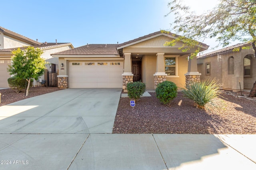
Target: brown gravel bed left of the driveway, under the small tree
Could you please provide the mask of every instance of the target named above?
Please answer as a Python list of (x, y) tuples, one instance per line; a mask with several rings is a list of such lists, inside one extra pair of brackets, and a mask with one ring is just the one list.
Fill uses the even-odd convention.
[(8, 88), (8, 89), (2, 89), (0, 90), (1, 93), (1, 103), (0, 106), (4, 106), (6, 104), (10, 104), (13, 102), (17, 102), (19, 100), (23, 100), (26, 98), (32, 98), (34, 96), (39, 96), (42, 94), (55, 92), (60, 90), (58, 87), (30, 87), (28, 96), (25, 97), (25, 92), (16, 93), (14, 90)]

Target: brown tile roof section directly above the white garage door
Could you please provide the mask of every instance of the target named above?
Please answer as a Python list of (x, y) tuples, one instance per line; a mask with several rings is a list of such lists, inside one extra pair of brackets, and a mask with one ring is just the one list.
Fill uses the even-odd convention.
[(88, 44), (88, 46), (84, 45), (67, 51), (54, 53), (54, 55), (118, 55), (116, 45), (117, 44)]

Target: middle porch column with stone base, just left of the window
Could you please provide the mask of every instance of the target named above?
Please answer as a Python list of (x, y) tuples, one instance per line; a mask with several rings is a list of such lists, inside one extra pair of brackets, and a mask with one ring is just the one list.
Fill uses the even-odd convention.
[(154, 88), (161, 82), (166, 81), (167, 74), (164, 70), (164, 53), (156, 53), (156, 72), (154, 74)]

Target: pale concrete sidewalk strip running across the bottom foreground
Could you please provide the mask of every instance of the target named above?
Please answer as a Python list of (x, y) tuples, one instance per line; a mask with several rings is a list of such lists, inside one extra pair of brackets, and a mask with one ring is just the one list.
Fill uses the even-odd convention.
[(1, 170), (256, 169), (256, 135), (1, 134), (0, 139), (0, 160), (8, 161)]

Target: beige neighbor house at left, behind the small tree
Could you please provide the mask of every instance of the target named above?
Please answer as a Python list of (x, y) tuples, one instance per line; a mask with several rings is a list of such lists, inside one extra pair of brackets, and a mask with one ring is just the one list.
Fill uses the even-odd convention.
[[(43, 50), (44, 53), (41, 57), (51, 63), (46, 65), (49, 71), (58, 70), (58, 59), (53, 58), (50, 54), (74, 48), (71, 43), (57, 43), (57, 41), (56, 43), (40, 43), (0, 27), (0, 87), (9, 87), (7, 79), (10, 74), (7, 72), (7, 68), (11, 64), (11, 51), (18, 47), (24, 49), (26, 46), (33, 46)], [(42, 79), (44, 79), (44, 76), (42, 76)]]

